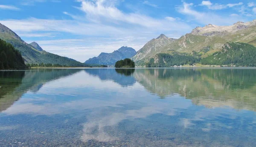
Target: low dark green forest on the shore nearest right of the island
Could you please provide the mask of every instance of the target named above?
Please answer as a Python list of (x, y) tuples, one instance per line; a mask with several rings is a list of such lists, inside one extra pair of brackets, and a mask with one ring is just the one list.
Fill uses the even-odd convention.
[(200, 62), (201, 58), (196, 58), (188, 55), (179, 54), (157, 54), (156, 57), (159, 59), (157, 63), (151, 58), (146, 64), (147, 67), (172, 67), (175, 65), (193, 65), (194, 63)]

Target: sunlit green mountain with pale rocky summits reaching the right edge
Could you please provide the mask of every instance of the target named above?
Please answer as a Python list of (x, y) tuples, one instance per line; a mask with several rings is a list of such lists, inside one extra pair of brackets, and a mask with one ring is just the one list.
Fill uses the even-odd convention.
[[(168, 50), (190, 54), (192, 51), (200, 52), (207, 57), (221, 50), (226, 42), (244, 42), (253, 44), (256, 40), (256, 20), (248, 23), (238, 22), (230, 26), (206, 25), (197, 27), (191, 33), (180, 37), (172, 44), (166, 45), (161, 50)], [(208, 48), (208, 51), (202, 51)]]

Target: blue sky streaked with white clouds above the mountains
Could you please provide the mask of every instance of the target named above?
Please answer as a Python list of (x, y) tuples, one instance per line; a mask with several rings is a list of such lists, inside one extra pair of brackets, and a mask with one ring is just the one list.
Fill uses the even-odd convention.
[(80, 62), (160, 34), (256, 19), (254, 0), (0, 0), (0, 23), (25, 42)]

